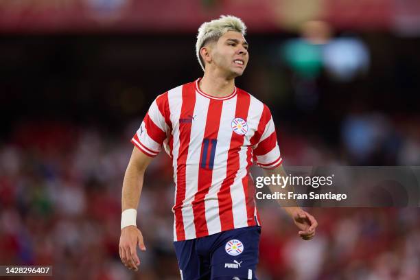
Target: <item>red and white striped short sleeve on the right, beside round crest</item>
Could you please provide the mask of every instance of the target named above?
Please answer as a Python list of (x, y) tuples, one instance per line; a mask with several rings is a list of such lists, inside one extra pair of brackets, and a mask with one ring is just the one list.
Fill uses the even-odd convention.
[(258, 142), (253, 145), (253, 156), (257, 165), (266, 169), (273, 169), (281, 165), (283, 160), (277, 143), (275, 124), (266, 105), (264, 105), (256, 134)]

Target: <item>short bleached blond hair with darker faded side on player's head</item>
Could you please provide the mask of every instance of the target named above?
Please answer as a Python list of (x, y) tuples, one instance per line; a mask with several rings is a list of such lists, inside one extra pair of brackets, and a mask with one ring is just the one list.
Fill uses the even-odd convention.
[(202, 23), (198, 28), (196, 55), (202, 71), (205, 71), (205, 62), (200, 56), (200, 49), (209, 42), (217, 42), (228, 31), (240, 32), (245, 36), (245, 23), (236, 16), (220, 16), (219, 19)]

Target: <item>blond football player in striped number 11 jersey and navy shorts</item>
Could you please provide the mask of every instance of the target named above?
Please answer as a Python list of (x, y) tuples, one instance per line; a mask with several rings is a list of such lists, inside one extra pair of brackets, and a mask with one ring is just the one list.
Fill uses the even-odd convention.
[[(246, 27), (235, 16), (203, 23), (196, 54), (203, 78), (156, 97), (132, 138), (135, 148), (122, 190), (119, 253), (137, 270), (145, 250), (136, 215), (143, 175), (161, 147), (174, 166), (174, 246), (181, 279), (257, 279), (260, 220), (250, 178), (253, 161), (266, 174), (285, 175), (270, 110), (237, 89), (248, 63)], [(316, 220), (287, 207), (299, 235), (315, 234)]]

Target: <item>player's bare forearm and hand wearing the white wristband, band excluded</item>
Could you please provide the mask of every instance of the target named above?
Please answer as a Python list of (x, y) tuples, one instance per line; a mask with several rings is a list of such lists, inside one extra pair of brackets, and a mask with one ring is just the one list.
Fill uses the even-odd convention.
[[(144, 173), (150, 161), (152, 161), (152, 157), (146, 156), (138, 148), (135, 147), (132, 150), (122, 187), (122, 211), (126, 209), (137, 209), (139, 206)], [(138, 270), (140, 264), (136, 250), (137, 245), (140, 250), (145, 250), (143, 235), (137, 229), (137, 226), (126, 226), (121, 229), (119, 257), (127, 268), (135, 271)]]

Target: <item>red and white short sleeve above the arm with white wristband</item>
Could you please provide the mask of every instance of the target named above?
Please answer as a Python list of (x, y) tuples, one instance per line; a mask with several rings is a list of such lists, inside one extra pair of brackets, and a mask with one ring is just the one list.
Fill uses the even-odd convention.
[(148, 156), (156, 156), (162, 150), (163, 141), (167, 137), (169, 126), (165, 122), (163, 95), (152, 102), (140, 128), (132, 137), (131, 142)]

